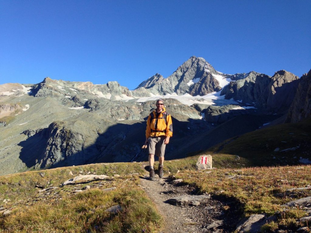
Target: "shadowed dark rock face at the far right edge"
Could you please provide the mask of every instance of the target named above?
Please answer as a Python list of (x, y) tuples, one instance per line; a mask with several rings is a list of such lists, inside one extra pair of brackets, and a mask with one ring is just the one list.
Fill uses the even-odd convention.
[(311, 70), (304, 74), (297, 87), (295, 98), (287, 114), (286, 122), (298, 122), (311, 116)]

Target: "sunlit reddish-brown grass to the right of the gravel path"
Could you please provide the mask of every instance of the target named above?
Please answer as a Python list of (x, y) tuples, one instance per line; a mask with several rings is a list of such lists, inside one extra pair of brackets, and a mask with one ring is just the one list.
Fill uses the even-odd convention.
[[(201, 193), (211, 194), (215, 199), (234, 199), (242, 213), (241, 218), (280, 213), (277, 224), (289, 226), (292, 219), (306, 216), (302, 209), (285, 210), (281, 205), (311, 195), (311, 190), (287, 191), (311, 185), (311, 166), (215, 169), (208, 172), (180, 172), (176, 178), (197, 186)], [(273, 223), (268, 226), (275, 228)]]

